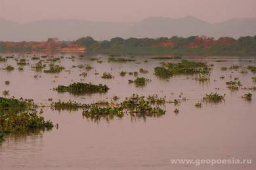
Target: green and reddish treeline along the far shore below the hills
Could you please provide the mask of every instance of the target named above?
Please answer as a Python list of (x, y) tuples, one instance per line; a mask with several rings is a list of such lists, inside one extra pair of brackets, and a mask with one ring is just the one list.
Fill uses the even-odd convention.
[(0, 52), (57, 51), (62, 48), (85, 48), (88, 54), (109, 55), (221, 55), (253, 56), (256, 55), (256, 35), (239, 39), (221, 37), (160, 37), (129, 38), (116, 37), (110, 41), (95, 41), (92, 37), (82, 37), (76, 41), (45, 42), (0, 42)]

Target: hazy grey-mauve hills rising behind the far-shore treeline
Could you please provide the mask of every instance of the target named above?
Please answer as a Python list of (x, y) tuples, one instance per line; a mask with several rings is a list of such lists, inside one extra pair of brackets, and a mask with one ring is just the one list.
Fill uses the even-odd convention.
[(86, 20), (41, 20), (17, 24), (0, 19), (0, 41), (45, 41), (49, 37), (73, 41), (91, 36), (96, 40), (113, 37), (234, 37), (256, 35), (256, 18), (239, 18), (209, 24), (198, 18), (150, 17), (141, 22), (90, 22)]

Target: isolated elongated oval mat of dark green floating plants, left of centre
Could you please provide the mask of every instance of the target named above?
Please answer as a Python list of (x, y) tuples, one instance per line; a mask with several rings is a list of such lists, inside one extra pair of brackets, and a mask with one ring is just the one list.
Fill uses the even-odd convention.
[(59, 93), (63, 92), (69, 92), (73, 94), (85, 94), (85, 93), (106, 93), (108, 92), (109, 88), (106, 85), (94, 85), (91, 83), (82, 83), (77, 82), (70, 84), (69, 86), (58, 86), (57, 88), (54, 88), (53, 90), (56, 90)]

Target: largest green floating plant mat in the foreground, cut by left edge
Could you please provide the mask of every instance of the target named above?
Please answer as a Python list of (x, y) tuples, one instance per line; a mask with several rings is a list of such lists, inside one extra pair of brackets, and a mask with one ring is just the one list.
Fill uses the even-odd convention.
[(53, 123), (49, 120), (45, 121), (33, 107), (33, 100), (30, 99), (0, 97), (0, 136), (2, 140), (9, 133), (30, 133), (37, 130), (49, 130), (53, 127)]

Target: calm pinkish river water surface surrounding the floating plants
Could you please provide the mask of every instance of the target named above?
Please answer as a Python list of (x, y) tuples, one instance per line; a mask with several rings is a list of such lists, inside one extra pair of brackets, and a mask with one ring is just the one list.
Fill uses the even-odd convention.
[[(0, 56), (10, 56), (1, 54)], [(36, 54), (42, 56), (43, 54)], [(18, 57), (18, 54), (15, 54)], [(20, 58), (30, 59), (31, 54), (22, 54)], [(32, 135), (10, 135), (0, 146), (0, 169), (256, 169), (256, 95), (251, 90), (230, 91), (226, 82), (239, 78), (244, 87), (255, 86), (250, 71), (247, 74), (238, 71), (221, 71), (221, 67), (233, 64), (256, 65), (253, 57), (184, 57), (193, 61), (213, 63), (210, 82), (200, 83), (192, 79), (195, 76), (179, 75), (162, 80), (153, 75), (154, 67), (160, 65), (160, 59), (150, 59), (149, 56), (135, 56), (136, 62), (108, 63), (107, 56), (96, 56), (103, 63), (90, 61), (89, 56), (68, 59), (71, 54), (54, 54), (54, 57), (64, 56), (56, 63), (64, 65), (71, 73), (62, 71), (60, 74), (45, 74), (32, 71), (25, 66), (24, 71), (15, 69), (12, 72), (0, 70), (0, 92), (10, 90), (10, 96), (34, 99), (36, 103), (49, 105), (53, 101), (68, 101), (93, 103), (99, 100), (110, 101), (114, 95), (119, 101), (133, 93), (140, 95), (158, 94), (166, 96), (167, 100), (182, 97), (180, 105), (167, 103), (166, 114), (160, 118), (123, 118), (100, 121), (83, 118), (82, 111), (61, 111), (46, 108), (43, 116), (58, 124), (51, 131)], [(126, 57), (129, 58), (129, 57)], [(147, 59), (148, 63), (144, 60)], [(217, 59), (226, 62), (215, 62)], [(168, 60), (178, 62), (181, 59)], [(29, 61), (30, 65), (37, 61)], [(140, 63), (137, 63), (140, 62)], [(83, 69), (72, 68), (72, 65), (88, 63), (94, 68), (83, 78)], [(0, 67), (16, 61), (9, 59), (0, 63)], [(135, 76), (121, 77), (121, 71), (138, 71), (147, 69), (144, 76), (152, 80), (143, 88), (128, 84)], [(105, 80), (94, 73), (112, 73), (114, 79)], [(33, 78), (41, 75), (40, 78)], [(219, 78), (224, 75), (224, 80)], [(232, 78), (230, 78), (232, 75)], [(81, 80), (84, 79), (84, 80)], [(11, 84), (5, 85), (9, 80)], [(106, 84), (110, 87), (108, 93), (93, 95), (71, 95), (57, 93), (53, 88), (73, 82), (92, 82)], [(216, 89), (219, 88), (219, 89)], [(226, 94), (225, 102), (219, 104), (203, 103), (202, 108), (194, 107), (205, 94), (218, 92)], [(245, 101), (242, 95), (253, 93), (252, 101)], [(173, 110), (179, 109), (179, 114)], [(174, 165), (174, 158), (238, 158), (251, 159), (251, 165)]]

